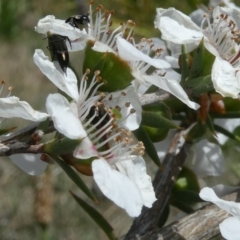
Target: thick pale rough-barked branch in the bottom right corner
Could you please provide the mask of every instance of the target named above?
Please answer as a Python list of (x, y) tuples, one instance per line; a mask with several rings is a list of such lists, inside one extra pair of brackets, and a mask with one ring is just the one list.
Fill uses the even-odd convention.
[[(226, 195), (224, 200), (240, 201), (240, 190)], [(207, 204), (202, 209), (187, 215), (161, 229), (154, 228), (147, 232), (139, 240), (183, 240), (183, 239), (212, 239), (220, 234), (219, 224), (230, 217), (226, 211), (215, 204)], [(130, 239), (130, 238), (129, 238)], [(135, 238), (132, 238), (135, 239)], [(214, 238), (215, 239), (215, 238)], [(222, 239), (222, 237), (220, 238)]]

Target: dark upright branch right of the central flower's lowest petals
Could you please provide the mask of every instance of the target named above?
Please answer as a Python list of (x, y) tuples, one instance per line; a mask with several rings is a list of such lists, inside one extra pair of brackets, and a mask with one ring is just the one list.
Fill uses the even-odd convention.
[(168, 203), (174, 182), (192, 146), (191, 143), (185, 142), (183, 133), (184, 131), (180, 131), (175, 134), (168, 153), (164, 158), (163, 170), (158, 170), (153, 181), (158, 200), (153, 204), (152, 208), (144, 207), (142, 209), (141, 215), (134, 220), (125, 240), (142, 239), (148, 232), (157, 229), (158, 219)]

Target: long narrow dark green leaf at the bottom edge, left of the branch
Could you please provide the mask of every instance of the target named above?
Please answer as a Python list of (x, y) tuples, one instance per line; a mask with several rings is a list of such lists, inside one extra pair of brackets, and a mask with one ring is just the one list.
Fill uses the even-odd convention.
[(88, 205), (80, 197), (75, 195), (70, 191), (70, 194), (76, 200), (76, 202), (83, 208), (83, 210), (88, 213), (88, 215), (95, 221), (95, 223), (106, 233), (108, 239), (116, 240), (117, 237), (114, 234), (112, 226), (107, 222), (107, 220), (93, 207)]

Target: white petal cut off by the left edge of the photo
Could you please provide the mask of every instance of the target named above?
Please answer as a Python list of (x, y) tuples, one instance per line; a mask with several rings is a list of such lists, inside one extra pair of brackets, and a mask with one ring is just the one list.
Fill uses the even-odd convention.
[(27, 102), (20, 101), (17, 97), (8, 97), (0, 98), (0, 117), (41, 122), (47, 119), (48, 114), (35, 111)]

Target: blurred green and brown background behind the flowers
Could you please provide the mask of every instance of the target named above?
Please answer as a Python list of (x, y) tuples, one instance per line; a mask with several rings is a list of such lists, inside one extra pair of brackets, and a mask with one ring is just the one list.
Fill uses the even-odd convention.
[[(175, 7), (189, 14), (197, 5), (207, 3), (199, 0), (105, 0), (95, 1), (94, 7), (102, 4), (106, 9), (115, 10), (115, 25), (132, 19), (136, 23), (136, 35), (149, 38), (160, 37), (159, 31), (153, 26), (156, 7)], [(32, 56), (36, 48), (43, 49), (49, 55), (47, 40), (35, 33), (34, 26), (48, 14), (66, 19), (74, 14), (86, 14), (87, 11), (88, 4), (85, 1), (0, 1), (0, 80), (6, 81), (6, 86), (14, 87), (12, 95), (27, 101), (34, 109), (45, 111), (46, 96), (55, 92), (56, 88), (33, 62)], [(78, 57), (78, 54), (73, 54), (71, 59), (80, 68)], [(7, 88), (1, 97), (5, 95)], [(21, 128), (28, 124), (27, 121), (5, 120), (2, 126)], [(1, 240), (107, 239), (70, 196), (68, 190), (83, 197), (56, 164), (41, 177), (28, 176), (8, 159), (1, 158), (0, 166)], [(154, 171), (156, 169), (152, 172)], [(116, 234), (121, 236), (126, 233), (132, 219), (102, 196), (92, 178), (83, 178), (101, 202), (97, 209), (112, 224)], [(47, 235), (42, 230), (43, 225), (48, 226)]]

